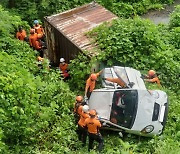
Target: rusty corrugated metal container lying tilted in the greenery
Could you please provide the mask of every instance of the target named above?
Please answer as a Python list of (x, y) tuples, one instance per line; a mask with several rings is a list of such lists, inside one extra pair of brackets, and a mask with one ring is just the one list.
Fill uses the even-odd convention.
[(85, 33), (115, 18), (117, 16), (94, 2), (46, 17), (46, 36), (51, 60), (58, 63), (59, 58), (64, 57), (69, 61), (83, 50), (88, 50), (90, 55), (96, 54), (93, 53), (95, 45)]

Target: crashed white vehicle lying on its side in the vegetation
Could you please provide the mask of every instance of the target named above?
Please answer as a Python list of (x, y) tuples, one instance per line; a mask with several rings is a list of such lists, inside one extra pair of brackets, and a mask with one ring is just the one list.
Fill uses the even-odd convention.
[(133, 68), (105, 68), (102, 78), (121, 78), (131, 87), (123, 89), (104, 80), (103, 88), (93, 90), (88, 105), (96, 109), (103, 128), (142, 136), (161, 134), (168, 114), (168, 97), (161, 90), (146, 89), (141, 73)]

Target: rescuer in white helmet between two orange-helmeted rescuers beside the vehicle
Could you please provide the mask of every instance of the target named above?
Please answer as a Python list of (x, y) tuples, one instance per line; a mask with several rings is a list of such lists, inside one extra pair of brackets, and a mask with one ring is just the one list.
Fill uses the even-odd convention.
[(86, 145), (86, 138), (87, 138), (87, 130), (85, 128), (85, 120), (89, 118), (89, 106), (84, 105), (82, 106), (82, 111), (80, 113), (80, 119), (78, 121), (78, 139), (82, 141), (83, 146)]

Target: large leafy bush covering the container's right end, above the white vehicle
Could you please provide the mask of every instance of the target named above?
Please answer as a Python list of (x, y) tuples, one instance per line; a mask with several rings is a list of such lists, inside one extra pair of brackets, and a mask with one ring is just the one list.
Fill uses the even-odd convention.
[(96, 28), (90, 35), (103, 50), (99, 58), (106, 65), (130, 66), (139, 70), (155, 69), (160, 72), (164, 86), (178, 90), (178, 51), (166, 46), (161, 33), (151, 22), (139, 18), (118, 19), (110, 27), (102, 25)]

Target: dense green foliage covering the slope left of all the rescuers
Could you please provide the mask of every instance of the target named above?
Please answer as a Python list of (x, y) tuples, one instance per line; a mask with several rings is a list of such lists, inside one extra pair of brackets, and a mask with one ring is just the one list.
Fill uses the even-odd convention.
[(46, 63), (40, 69), (36, 52), (14, 38), (20, 18), (2, 8), (0, 14), (0, 153), (72, 150), (74, 94), (59, 72)]

